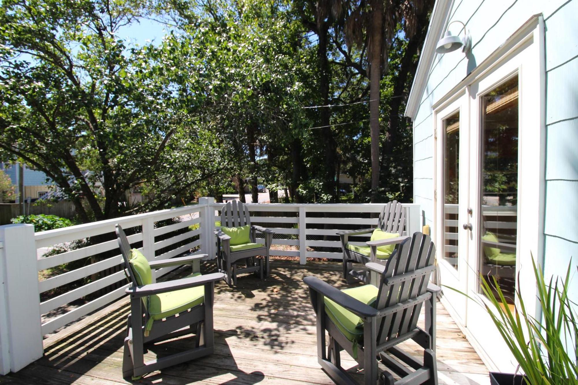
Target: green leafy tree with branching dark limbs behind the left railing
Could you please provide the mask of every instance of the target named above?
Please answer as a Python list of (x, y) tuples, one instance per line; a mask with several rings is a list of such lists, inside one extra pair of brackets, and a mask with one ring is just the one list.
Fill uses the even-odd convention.
[(194, 73), (184, 84), (175, 71), (174, 40), (129, 47), (119, 38), (124, 25), (147, 16), (144, 5), (8, 0), (0, 6), (0, 148), (45, 172), (83, 221), (126, 212), (131, 188), (146, 186), (154, 197), (133, 210), (190, 194), (210, 173), (194, 157), (218, 152), (202, 132), (200, 144), (182, 140), (203, 92)]

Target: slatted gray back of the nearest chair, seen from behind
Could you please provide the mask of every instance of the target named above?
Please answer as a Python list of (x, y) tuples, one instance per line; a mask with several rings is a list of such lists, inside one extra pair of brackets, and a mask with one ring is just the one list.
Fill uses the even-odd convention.
[[(416, 232), (404, 240), (387, 261), (381, 275), (377, 309), (386, 309), (415, 299), (427, 291), (433, 269), (435, 246), (429, 235)], [(381, 318), (377, 331), (377, 344), (387, 342), (414, 330), (423, 301)]]

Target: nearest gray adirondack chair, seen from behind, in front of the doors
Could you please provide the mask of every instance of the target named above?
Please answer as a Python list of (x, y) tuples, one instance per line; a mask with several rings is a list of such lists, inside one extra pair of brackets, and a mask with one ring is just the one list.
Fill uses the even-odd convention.
[[(318, 362), (335, 383), (356, 383), (340, 365), (342, 350), (364, 368), (365, 384), (375, 384), (378, 376), (390, 385), (438, 383), (435, 298), (440, 289), (428, 283), (435, 268), (434, 254), (431, 238), (416, 232), (399, 244), (385, 265), (366, 264), (379, 274), (377, 286), (340, 291), (317, 277), (305, 277), (317, 318)], [(417, 319), (424, 303), (425, 328), (421, 329)], [(397, 347), (407, 339), (423, 347), (423, 362)], [(378, 374), (377, 360), (388, 370)], [(391, 372), (401, 380), (396, 382)]]

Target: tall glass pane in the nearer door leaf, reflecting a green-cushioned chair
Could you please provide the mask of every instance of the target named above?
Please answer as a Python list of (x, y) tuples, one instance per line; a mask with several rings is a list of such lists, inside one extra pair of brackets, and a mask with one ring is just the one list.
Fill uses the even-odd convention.
[(513, 304), (518, 205), (518, 77), (480, 97), (479, 273)]

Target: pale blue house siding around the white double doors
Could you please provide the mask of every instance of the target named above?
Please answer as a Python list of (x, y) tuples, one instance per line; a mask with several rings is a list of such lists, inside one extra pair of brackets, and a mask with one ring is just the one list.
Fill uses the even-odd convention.
[[(472, 53), (467, 57), (459, 51), (435, 54), (429, 68), (427, 85), (413, 119), (414, 202), (424, 210), (425, 224), (433, 226), (432, 106), (534, 14), (543, 15), (545, 28), (544, 272), (556, 276), (565, 273), (570, 258), (574, 258), (574, 266), (578, 264), (578, 0), (453, 2), (449, 22), (460, 20), (466, 24), (472, 36)], [(454, 23), (450, 30), (461, 36), (461, 28)], [(570, 294), (578, 298), (575, 267), (573, 273)]]

